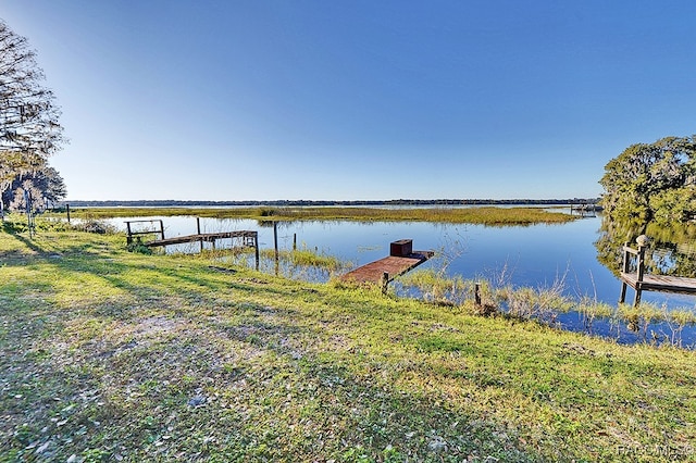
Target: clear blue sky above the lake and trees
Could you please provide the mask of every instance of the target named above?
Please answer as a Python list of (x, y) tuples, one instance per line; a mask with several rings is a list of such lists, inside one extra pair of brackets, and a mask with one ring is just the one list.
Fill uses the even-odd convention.
[(0, 0), (69, 199), (598, 196), (696, 133), (692, 0)]

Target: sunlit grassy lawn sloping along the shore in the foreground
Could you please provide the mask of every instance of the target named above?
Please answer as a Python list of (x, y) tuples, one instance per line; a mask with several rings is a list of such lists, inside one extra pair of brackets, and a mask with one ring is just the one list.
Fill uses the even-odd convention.
[(0, 233), (0, 461), (696, 461), (691, 351), (117, 235)]

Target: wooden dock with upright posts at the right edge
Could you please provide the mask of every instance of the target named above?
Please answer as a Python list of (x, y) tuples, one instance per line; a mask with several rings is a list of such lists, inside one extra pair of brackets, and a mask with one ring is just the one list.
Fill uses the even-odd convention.
[[(626, 243), (623, 247), (623, 271), (621, 272), (621, 297), (619, 302), (624, 302), (627, 286), (635, 290), (633, 305), (641, 303), (643, 291), (673, 292), (680, 295), (696, 295), (696, 278), (669, 275), (650, 275), (645, 273), (645, 249), (648, 238), (641, 235), (636, 242), (638, 249), (633, 249)], [(632, 271), (631, 255), (635, 256), (635, 270)]]

